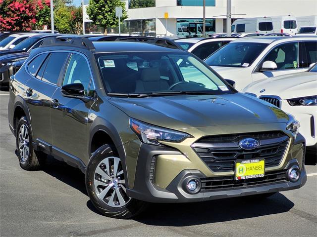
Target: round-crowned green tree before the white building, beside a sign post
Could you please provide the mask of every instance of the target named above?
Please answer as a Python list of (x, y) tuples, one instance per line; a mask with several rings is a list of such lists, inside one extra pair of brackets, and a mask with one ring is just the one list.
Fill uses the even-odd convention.
[(125, 3), (121, 0), (89, 0), (87, 7), (87, 14), (89, 19), (94, 21), (96, 25), (104, 27), (107, 34), (107, 27), (115, 27), (118, 25), (118, 17), (115, 16), (115, 7), (122, 7), (122, 17), (120, 20), (124, 20), (128, 17)]

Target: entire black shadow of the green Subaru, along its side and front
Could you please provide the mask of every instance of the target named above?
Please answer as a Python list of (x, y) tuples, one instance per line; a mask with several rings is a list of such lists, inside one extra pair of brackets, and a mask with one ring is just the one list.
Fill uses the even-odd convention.
[[(88, 196), (85, 175), (79, 169), (49, 157), (43, 171)], [(266, 199), (235, 197), (190, 203), (149, 203), (134, 220), (146, 225), (182, 227), (284, 213), (293, 206), (294, 203), (280, 193)], [(102, 215), (90, 200), (87, 207)]]

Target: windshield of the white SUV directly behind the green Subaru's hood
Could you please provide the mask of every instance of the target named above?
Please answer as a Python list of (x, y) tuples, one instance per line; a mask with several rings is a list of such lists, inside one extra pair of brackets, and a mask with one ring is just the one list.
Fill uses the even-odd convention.
[(266, 43), (228, 43), (215, 53), (211, 54), (205, 62), (210, 66), (249, 67), (266, 46)]

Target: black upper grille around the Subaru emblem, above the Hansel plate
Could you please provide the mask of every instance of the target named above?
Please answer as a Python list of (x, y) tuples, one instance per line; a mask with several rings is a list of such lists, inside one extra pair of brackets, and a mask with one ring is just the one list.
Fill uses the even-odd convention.
[[(239, 142), (244, 138), (254, 138), (259, 141), (259, 147), (254, 150), (243, 150)], [(228, 134), (208, 136), (192, 145), (200, 158), (214, 172), (234, 170), (237, 159), (265, 159), (265, 167), (278, 165), (285, 153), (289, 137), (280, 131)]]

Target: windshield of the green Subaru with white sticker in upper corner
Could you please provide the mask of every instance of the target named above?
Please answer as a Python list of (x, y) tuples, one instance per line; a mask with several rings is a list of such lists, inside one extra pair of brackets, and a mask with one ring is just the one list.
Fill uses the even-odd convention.
[(224, 94), (232, 89), (188, 53), (96, 54), (108, 92), (142, 95)]

